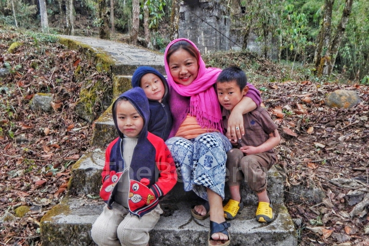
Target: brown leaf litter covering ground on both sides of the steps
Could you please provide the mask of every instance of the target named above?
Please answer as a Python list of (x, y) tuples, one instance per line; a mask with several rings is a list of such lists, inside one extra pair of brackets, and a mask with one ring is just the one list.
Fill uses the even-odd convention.
[[(11, 69), (0, 78), (0, 217), (5, 218), (0, 222), (0, 242), (40, 245), (40, 219), (66, 195), (70, 168), (89, 148), (93, 126), (74, 112), (80, 87), (87, 77), (110, 78), (98, 73), (84, 54), (51, 43), (55, 40), (9, 31), (0, 35), (0, 68)], [(23, 45), (8, 53), (15, 41)], [(254, 73), (284, 77), (277, 65), (257, 60), (260, 69)], [(76, 61), (83, 76), (75, 74)], [(363, 198), (369, 189), (368, 87), (311, 81), (256, 87), (282, 136), (277, 167), (285, 180), (285, 203), (296, 222), (299, 244), (368, 245), (369, 198)], [(325, 95), (338, 89), (356, 91), (361, 103), (352, 109), (327, 107)], [(54, 95), (52, 112), (30, 109), (35, 93)], [(95, 110), (104, 109), (96, 105)], [(325, 196), (316, 202), (292, 192), (298, 186), (320, 188)], [(348, 196), (353, 192), (359, 192), (356, 199)], [(30, 210), (16, 217), (21, 206)]]

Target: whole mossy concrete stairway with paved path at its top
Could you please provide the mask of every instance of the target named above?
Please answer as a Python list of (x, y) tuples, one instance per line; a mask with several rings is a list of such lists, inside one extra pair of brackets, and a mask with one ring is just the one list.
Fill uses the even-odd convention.
[[(113, 99), (131, 88), (132, 74), (138, 66), (152, 66), (165, 74), (162, 54), (110, 40), (64, 37), (73, 39), (77, 46), (87, 45), (96, 53), (108, 54), (115, 61), (110, 69), (114, 80)], [(104, 207), (98, 196), (101, 170), (105, 149), (116, 136), (110, 107), (95, 121), (90, 150), (72, 167), (67, 196), (41, 220), (44, 246), (96, 245), (90, 230)], [(283, 203), (283, 178), (275, 168), (268, 173), (268, 193), (273, 200), (275, 219), (259, 223), (254, 218), (257, 197), (247, 186), (241, 186), (245, 208), (231, 221), (231, 245), (297, 245), (294, 223)], [(200, 221), (190, 213), (191, 206), (199, 202), (193, 192), (183, 191), (179, 179), (160, 201), (164, 213), (150, 233), (150, 245), (208, 245), (209, 218)]]

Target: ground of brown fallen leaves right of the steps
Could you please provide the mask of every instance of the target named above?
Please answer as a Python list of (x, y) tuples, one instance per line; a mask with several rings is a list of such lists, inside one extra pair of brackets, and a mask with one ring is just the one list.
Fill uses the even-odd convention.
[[(286, 195), (297, 185), (320, 187), (326, 195), (319, 204), (286, 202), (292, 217), (301, 220), (300, 245), (369, 245), (363, 207), (369, 200), (350, 196), (369, 194), (369, 88), (310, 81), (261, 86), (268, 88), (262, 92), (264, 105), (282, 136), (276, 151), (286, 170)], [(361, 103), (352, 109), (327, 107), (325, 95), (338, 89), (355, 90)]]

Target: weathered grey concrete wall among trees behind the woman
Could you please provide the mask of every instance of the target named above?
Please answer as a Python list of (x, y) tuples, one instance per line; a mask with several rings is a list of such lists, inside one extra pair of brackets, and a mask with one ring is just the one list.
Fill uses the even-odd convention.
[[(237, 1), (187, 0), (179, 13), (178, 36), (192, 40), (201, 53), (242, 49), (243, 13)], [(250, 33), (247, 49), (262, 55), (263, 44), (256, 41), (257, 37), (255, 32)], [(278, 50), (269, 52), (269, 58), (277, 55)]]

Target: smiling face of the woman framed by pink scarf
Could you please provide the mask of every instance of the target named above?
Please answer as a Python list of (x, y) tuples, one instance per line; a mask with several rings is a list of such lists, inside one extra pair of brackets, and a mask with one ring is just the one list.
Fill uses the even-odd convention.
[(168, 61), (170, 73), (173, 80), (180, 85), (191, 85), (198, 74), (198, 63), (196, 57), (188, 51), (179, 49), (169, 57)]

